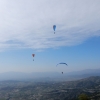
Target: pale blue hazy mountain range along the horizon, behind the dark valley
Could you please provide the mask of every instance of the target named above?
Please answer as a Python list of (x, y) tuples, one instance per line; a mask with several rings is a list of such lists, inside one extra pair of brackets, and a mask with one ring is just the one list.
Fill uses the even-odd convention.
[(0, 73), (0, 80), (38, 80), (38, 81), (65, 81), (86, 78), (90, 76), (100, 76), (100, 69), (85, 69), (69, 73), (58, 72), (5, 72)]

